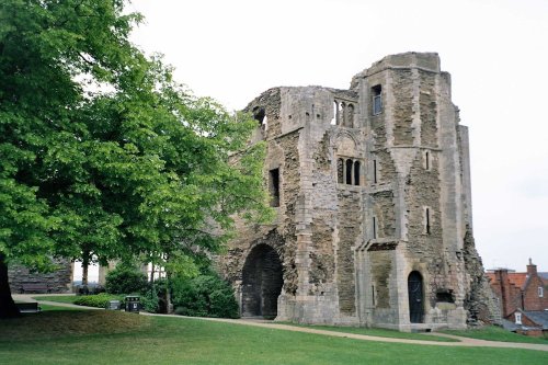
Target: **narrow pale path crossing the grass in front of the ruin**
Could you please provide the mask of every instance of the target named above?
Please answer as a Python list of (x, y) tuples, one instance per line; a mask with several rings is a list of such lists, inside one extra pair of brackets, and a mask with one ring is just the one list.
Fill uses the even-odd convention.
[[(31, 295), (13, 295), (13, 299), (21, 300), (21, 301), (36, 301), (36, 300), (31, 298)], [(84, 309), (84, 308), (85, 309), (100, 309), (100, 308), (82, 307), (82, 306), (76, 306), (76, 305), (66, 304), (66, 303), (47, 301), (47, 300), (38, 300), (38, 303), (45, 304), (45, 305), (47, 304), (47, 305), (52, 305), (52, 306), (68, 307), (68, 308), (76, 307), (76, 308), (81, 308), (81, 309)], [(445, 334), (445, 333), (437, 333), (437, 332), (432, 333), (432, 334), (458, 340), (459, 342), (439, 342), (439, 341), (425, 341), (425, 340), (411, 340), (411, 339), (381, 338), (381, 337), (376, 337), (376, 335), (335, 332), (335, 331), (319, 330), (319, 329), (313, 329), (313, 328), (297, 327), (297, 326), (290, 326), (290, 324), (281, 324), (281, 323), (266, 321), (266, 320), (260, 320), (260, 319), (256, 320), (256, 319), (202, 318), (202, 317), (183, 317), (183, 316), (175, 316), (175, 315), (153, 315), (153, 313), (147, 313), (147, 312), (141, 312), (141, 315), (172, 317), (172, 318), (179, 318), (179, 319), (193, 318), (193, 319), (199, 319), (199, 320), (206, 320), (206, 321), (271, 328), (271, 329), (284, 330), (284, 331), (315, 333), (315, 334), (330, 335), (330, 337), (334, 337), (334, 338), (345, 338), (345, 339), (354, 339), (354, 340), (363, 340), (363, 341), (409, 343), (409, 344), (432, 345), (432, 346), (525, 349), (525, 350), (537, 350), (537, 351), (548, 352), (548, 344), (545, 345), (545, 344), (537, 344), (537, 343), (486, 341), (486, 340), (469, 339), (469, 338), (463, 338), (463, 337)]]

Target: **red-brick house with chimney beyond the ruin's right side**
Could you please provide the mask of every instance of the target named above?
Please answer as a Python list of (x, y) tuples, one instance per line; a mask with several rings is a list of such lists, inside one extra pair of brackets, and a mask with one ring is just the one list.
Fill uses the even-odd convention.
[(548, 317), (548, 281), (539, 275), (537, 265), (529, 259), (527, 272), (496, 269), (487, 275), (499, 298), (502, 317), (516, 323), (520, 329), (540, 328), (543, 331), (546, 324), (538, 320)]

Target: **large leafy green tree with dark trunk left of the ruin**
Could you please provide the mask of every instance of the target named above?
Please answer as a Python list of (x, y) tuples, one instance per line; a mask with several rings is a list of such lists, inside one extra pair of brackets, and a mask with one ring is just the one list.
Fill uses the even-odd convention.
[(123, 0), (0, 1), (0, 317), (10, 262), (189, 262), (269, 214), (254, 121), (128, 41)]

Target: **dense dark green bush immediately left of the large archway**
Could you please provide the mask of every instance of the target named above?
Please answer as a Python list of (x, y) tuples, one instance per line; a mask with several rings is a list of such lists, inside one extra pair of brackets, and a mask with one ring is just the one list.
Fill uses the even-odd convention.
[(217, 275), (173, 281), (175, 313), (194, 317), (238, 318), (230, 285)]

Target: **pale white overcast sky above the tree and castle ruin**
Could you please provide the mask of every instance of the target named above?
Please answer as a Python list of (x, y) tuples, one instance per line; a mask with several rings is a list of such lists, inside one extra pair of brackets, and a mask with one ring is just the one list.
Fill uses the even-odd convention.
[(133, 0), (133, 41), (197, 95), (240, 110), (277, 85), (349, 88), (386, 55), (437, 52), (470, 128), (487, 269), (548, 271), (548, 1)]

